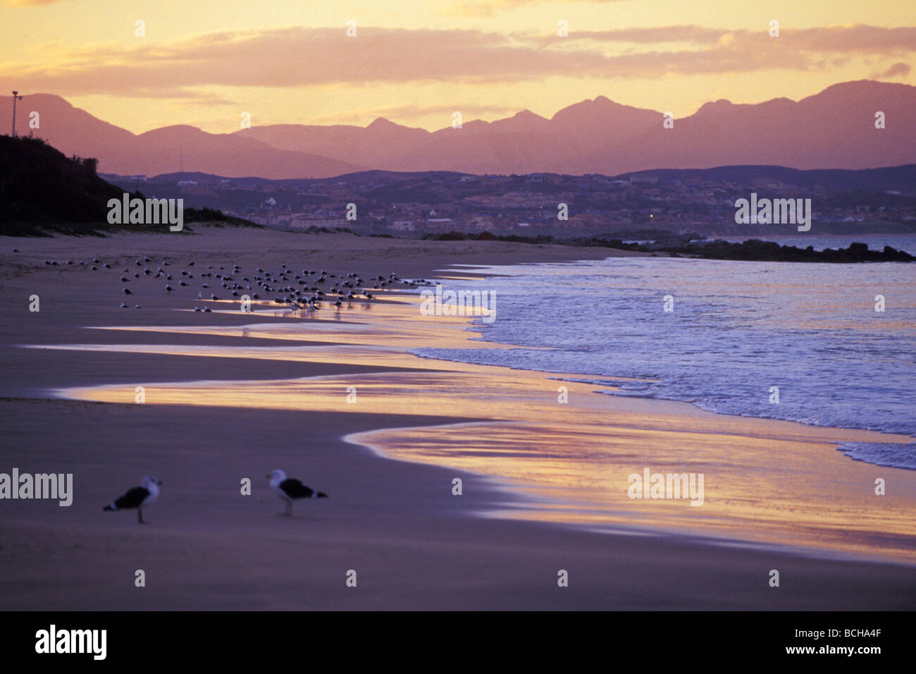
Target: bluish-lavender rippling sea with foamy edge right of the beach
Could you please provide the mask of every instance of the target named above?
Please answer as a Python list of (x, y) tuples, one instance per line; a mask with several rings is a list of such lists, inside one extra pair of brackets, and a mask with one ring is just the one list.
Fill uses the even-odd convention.
[[(770, 240), (916, 254), (914, 235)], [(916, 470), (916, 263), (608, 258), (473, 271), (447, 285), (494, 293), (496, 320), (468, 329), (507, 348), (411, 353), (562, 372), (608, 395), (721, 414), (903, 434), (913, 443), (838, 448)]]

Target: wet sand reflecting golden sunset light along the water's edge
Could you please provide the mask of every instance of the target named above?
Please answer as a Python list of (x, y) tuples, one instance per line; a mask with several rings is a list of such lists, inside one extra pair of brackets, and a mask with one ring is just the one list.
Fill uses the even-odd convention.
[[(522, 506), (507, 506), (492, 515), (726, 536), (916, 561), (916, 471), (870, 466), (835, 450), (844, 440), (911, 438), (711, 414), (686, 403), (598, 394), (594, 384), (560, 381), (562, 374), (416, 358), (406, 349), (501, 348), (469, 340), (474, 333), (464, 330), (466, 318), (422, 316), (418, 304), (405, 298), (400, 304), (376, 304), (371, 311), (344, 312), (340, 320), (333, 311), (319, 312), (317, 318), (271, 312), (284, 320), (264, 323), (253, 315), (247, 326), (123, 328), (302, 342), (295, 347), (270, 347), (269, 342), (262, 347), (60, 347), (346, 362), (411, 371), (283, 381), (136, 381), (60, 394), (133, 403), (134, 387), (143, 385), (147, 404), (479, 419), (382, 429), (348, 439), (392, 459), (493, 476), (528, 496)], [(348, 402), (351, 386), (356, 387), (355, 403)], [(560, 386), (567, 389), (567, 403), (558, 401)], [(629, 498), (627, 477), (647, 468), (703, 473), (703, 505)], [(886, 496), (874, 493), (878, 477), (892, 484)]]

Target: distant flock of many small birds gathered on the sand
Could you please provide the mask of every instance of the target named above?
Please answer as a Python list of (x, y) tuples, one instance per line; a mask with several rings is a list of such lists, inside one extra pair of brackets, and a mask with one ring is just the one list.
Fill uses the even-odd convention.
[[(46, 265), (58, 266), (57, 260), (44, 260)], [(67, 260), (66, 264), (80, 264), (85, 266), (84, 260), (74, 262)], [(233, 264), (227, 270), (225, 267), (208, 265), (206, 271), (197, 271), (195, 262), (189, 261), (187, 269), (172, 271), (169, 260), (159, 260), (154, 263), (149, 256), (134, 260), (134, 266), (128, 264), (122, 271), (120, 282), (124, 284), (121, 292), (127, 296), (137, 295), (139, 283), (143, 279), (162, 279), (165, 282), (164, 292), (174, 293), (180, 288), (191, 289), (192, 285), (200, 284), (197, 299), (209, 299), (219, 302), (221, 298), (213, 292), (213, 286), (220, 283), (225, 291), (225, 299), (241, 299), (244, 295), (253, 302), (270, 302), (286, 306), (293, 311), (308, 311), (313, 313), (322, 308), (322, 303), (327, 303), (338, 310), (354, 300), (365, 299), (372, 301), (376, 295), (373, 291), (383, 291), (394, 287), (416, 288), (420, 285), (431, 285), (425, 279), (401, 279), (392, 271), (387, 276), (377, 275), (364, 278), (363, 275), (351, 271), (345, 276), (338, 276), (328, 271), (301, 270), (294, 271), (285, 263), (277, 271), (269, 271), (257, 267), (253, 273), (245, 274), (242, 267)], [(113, 264), (103, 260), (94, 259), (90, 263), (93, 271), (114, 269)], [(196, 274), (196, 280), (195, 280)], [(136, 309), (139, 304), (134, 305)], [(129, 308), (128, 304), (121, 303), (121, 308)], [(195, 306), (194, 311), (210, 313), (212, 310), (207, 304)]]

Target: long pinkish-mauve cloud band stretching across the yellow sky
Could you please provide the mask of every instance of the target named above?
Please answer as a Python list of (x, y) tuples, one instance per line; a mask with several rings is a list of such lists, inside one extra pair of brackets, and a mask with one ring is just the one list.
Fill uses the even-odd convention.
[[(0, 65), (30, 91), (193, 98), (206, 87), (334, 87), (379, 83), (518, 83), (547, 77), (637, 77), (791, 69), (910, 55), (916, 28), (698, 27), (575, 31), (570, 38), (481, 30), (277, 28), (219, 32), (136, 47), (49, 50), (54, 62)], [(634, 49), (633, 44), (638, 48)], [(678, 47), (678, 44), (682, 44)], [(662, 46), (667, 49), (660, 49)], [(40, 53), (40, 51), (38, 52)], [(905, 65), (905, 64), (904, 64)], [(899, 69), (898, 69), (899, 70)], [(899, 70), (899, 72), (901, 72)], [(14, 79), (15, 78), (15, 79)]]

